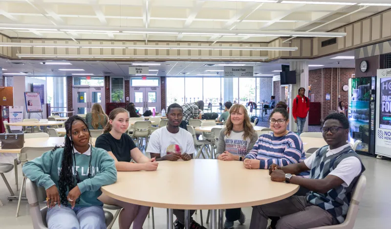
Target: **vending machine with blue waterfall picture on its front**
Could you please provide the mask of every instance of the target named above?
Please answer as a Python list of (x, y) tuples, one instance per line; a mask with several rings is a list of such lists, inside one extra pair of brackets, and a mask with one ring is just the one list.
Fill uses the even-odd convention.
[(348, 141), (358, 144), (356, 152), (375, 156), (376, 77), (349, 79)]

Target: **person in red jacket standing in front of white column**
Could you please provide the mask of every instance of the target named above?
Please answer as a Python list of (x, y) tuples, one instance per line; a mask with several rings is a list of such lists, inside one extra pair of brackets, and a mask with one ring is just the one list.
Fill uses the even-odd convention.
[(305, 88), (299, 88), (299, 94), (293, 100), (293, 109), (292, 115), (295, 118), (295, 123), (297, 124), (297, 134), (300, 135), (303, 132), (305, 119), (309, 111), (309, 99), (305, 97)]

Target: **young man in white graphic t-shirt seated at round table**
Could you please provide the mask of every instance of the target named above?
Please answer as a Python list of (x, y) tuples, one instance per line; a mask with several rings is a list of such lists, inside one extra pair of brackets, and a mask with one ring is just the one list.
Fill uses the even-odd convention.
[[(167, 108), (167, 125), (155, 130), (148, 142), (147, 152), (151, 154), (151, 158), (155, 157), (156, 161), (177, 161), (179, 159), (189, 161), (193, 158), (195, 152), (193, 136), (179, 127), (182, 118), (182, 106), (171, 104)], [(195, 210), (191, 210), (190, 216), (194, 212)], [(174, 215), (177, 218), (174, 222), (175, 229), (184, 229), (185, 210), (174, 209)], [(206, 229), (193, 219), (191, 219), (190, 228)]]

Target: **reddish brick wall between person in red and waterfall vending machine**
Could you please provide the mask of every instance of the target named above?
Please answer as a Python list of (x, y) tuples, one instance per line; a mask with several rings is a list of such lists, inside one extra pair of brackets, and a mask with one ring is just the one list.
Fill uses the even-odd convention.
[[(314, 96), (314, 102), (321, 102), (323, 107), (323, 117), (326, 118), (330, 110), (337, 110), (337, 104), (342, 101), (348, 102), (348, 91), (344, 91), (342, 87), (349, 84), (349, 79), (354, 73), (354, 68), (324, 68), (323, 79), (321, 69), (311, 70), (308, 72), (308, 85), (311, 85), (311, 97)], [(332, 77), (331, 77), (332, 75)], [(338, 84), (339, 83), (339, 84)], [(322, 97), (323, 84), (323, 97)], [(331, 100), (326, 101), (326, 94), (331, 95)], [(340, 98), (338, 98), (340, 95)]]

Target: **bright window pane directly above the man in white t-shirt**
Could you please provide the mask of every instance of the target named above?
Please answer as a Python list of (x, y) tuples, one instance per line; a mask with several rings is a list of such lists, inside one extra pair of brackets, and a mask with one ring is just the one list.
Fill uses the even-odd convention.
[(185, 98), (185, 78), (168, 77), (166, 78), (167, 106), (170, 104), (184, 104)]

